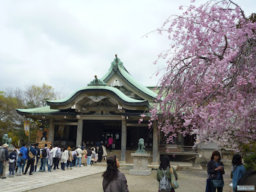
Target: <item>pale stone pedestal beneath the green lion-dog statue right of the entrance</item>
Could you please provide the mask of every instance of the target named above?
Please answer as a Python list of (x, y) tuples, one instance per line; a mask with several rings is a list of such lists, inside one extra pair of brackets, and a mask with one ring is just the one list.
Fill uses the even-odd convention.
[(131, 175), (150, 175), (151, 169), (148, 168), (148, 157), (150, 154), (131, 153), (133, 156), (133, 169)]

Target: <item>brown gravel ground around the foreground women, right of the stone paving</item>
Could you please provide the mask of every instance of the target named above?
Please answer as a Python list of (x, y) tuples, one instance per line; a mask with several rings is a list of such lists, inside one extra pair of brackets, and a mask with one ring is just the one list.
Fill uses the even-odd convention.
[[(152, 170), (149, 176), (129, 175), (129, 170), (120, 168), (120, 172), (125, 173), (129, 191), (144, 192), (158, 191), (158, 182), (156, 180), (156, 170)], [(223, 188), (224, 192), (232, 192), (232, 188), (228, 186), (232, 180), (230, 179), (230, 167), (225, 167)], [(185, 191), (205, 191), (207, 172), (206, 170), (177, 170), (179, 188), (177, 192)], [(89, 177), (81, 177), (79, 179), (68, 180), (58, 184), (45, 186), (44, 188), (33, 189), (31, 191), (103, 191), (102, 189), (102, 173), (91, 175)]]

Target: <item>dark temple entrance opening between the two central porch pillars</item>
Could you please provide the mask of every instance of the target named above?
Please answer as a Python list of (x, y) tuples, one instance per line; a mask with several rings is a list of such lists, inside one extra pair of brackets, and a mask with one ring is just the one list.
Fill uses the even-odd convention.
[(113, 138), (115, 143), (114, 149), (121, 149), (121, 133), (122, 122), (121, 121), (106, 121), (106, 120), (84, 120), (83, 121), (83, 142), (91, 147), (95, 145), (97, 141), (103, 141), (108, 145), (108, 138)]

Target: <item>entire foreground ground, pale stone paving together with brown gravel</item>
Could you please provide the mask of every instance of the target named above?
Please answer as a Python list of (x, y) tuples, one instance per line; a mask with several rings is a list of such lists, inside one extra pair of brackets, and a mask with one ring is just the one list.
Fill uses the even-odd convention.
[[(73, 170), (15, 176), (15, 178), (1, 179), (0, 191), (103, 191), (101, 175), (104, 170), (106, 170), (104, 166), (84, 166)], [(125, 173), (129, 191), (158, 191), (156, 170), (148, 176), (129, 175), (129, 169), (126, 168), (120, 168), (120, 171)], [(228, 186), (232, 182), (230, 167), (226, 166), (225, 172), (223, 191), (232, 192), (232, 188)], [(177, 170), (177, 174), (179, 188), (175, 189), (176, 192), (205, 191), (206, 170)]]

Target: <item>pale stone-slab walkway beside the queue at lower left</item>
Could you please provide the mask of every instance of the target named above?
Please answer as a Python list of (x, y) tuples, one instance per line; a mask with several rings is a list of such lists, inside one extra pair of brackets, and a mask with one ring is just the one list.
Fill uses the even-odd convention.
[[(7, 168), (8, 169), (8, 168)], [(77, 179), (88, 175), (102, 173), (106, 170), (106, 166), (82, 166), (74, 167), (72, 170), (56, 170), (56, 172), (38, 172), (33, 175), (8, 177), (9, 171), (6, 171), (6, 179), (1, 179), (0, 191), (28, 191), (31, 189), (41, 188), (66, 180)], [(33, 180), (33, 182), (29, 182)]]

